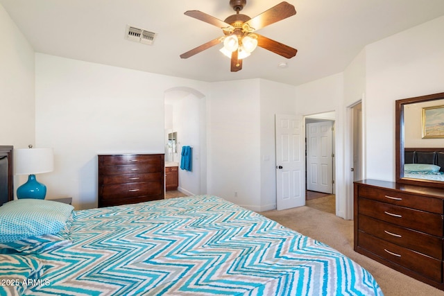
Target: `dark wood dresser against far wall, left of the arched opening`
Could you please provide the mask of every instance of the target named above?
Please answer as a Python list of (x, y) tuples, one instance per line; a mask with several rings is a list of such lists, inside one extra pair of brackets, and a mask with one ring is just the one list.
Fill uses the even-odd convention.
[(164, 199), (163, 154), (99, 157), (99, 207)]

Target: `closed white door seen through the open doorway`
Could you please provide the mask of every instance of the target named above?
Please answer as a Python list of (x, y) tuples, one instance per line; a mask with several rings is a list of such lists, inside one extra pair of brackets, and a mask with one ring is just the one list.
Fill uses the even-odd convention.
[(332, 121), (307, 124), (307, 189), (333, 193)]

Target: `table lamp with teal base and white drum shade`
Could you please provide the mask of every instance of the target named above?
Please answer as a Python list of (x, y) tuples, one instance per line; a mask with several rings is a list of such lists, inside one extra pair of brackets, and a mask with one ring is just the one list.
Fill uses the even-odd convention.
[(15, 175), (28, 175), (28, 182), (19, 186), (17, 198), (36, 198), (44, 200), (46, 186), (35, 179), (36, 174), (53, 171), (54, 157), (52, 148), (14, 149)]

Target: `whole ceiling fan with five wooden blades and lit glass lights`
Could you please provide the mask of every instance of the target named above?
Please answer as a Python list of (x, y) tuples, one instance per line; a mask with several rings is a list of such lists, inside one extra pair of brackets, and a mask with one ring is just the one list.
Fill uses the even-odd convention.
[(281, 2), (277, 6), (262, 12), (256, 17), (250, 18), (248, 15), (242, 15), (239, 13), (246, 5), (246, 0), (230, 0), (230, 6), (236, 11), (235, 15), (230, 15), (221, 21), (207, 15), (199, 10), (188, 10), (185, 15), (194, 17), (200, 21), (205, 21), (208, 24), (212, 24), (222, 29), (224, 36), (218, 37), (200, 46), (197, 46), (191, 51), (182, 53), (180, 58), (189, 58), (196, 53), (210, 49), (223, 42), (223, 48), (221, 51), (231, 58), (231, 71), (236, 72), (242, 69), (242, 60), (250, 55), (256, 48), (256, 46), (282, 55), (284, 58), (293, 58), (298, 52), (297, 49), (293, 49), (290, 46), (282, 44), (280, 42), (271, 40), (267, 37), (255, 33), (255, 31), (264, 26), (274, 24), (277, 21), (296, 15), (296, 9), (293, 5), (287, 2)]

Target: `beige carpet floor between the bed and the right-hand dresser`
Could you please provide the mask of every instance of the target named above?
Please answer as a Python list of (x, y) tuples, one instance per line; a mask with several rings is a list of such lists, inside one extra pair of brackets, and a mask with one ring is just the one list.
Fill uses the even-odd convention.
[(407, 277), (353, 250), (353, 221), (311, 207), (298, 207), (284, 211), (264, 211), (262, 215), (334, 247), (366, 268), (386, 296), (432, 296), (444, 292)]

